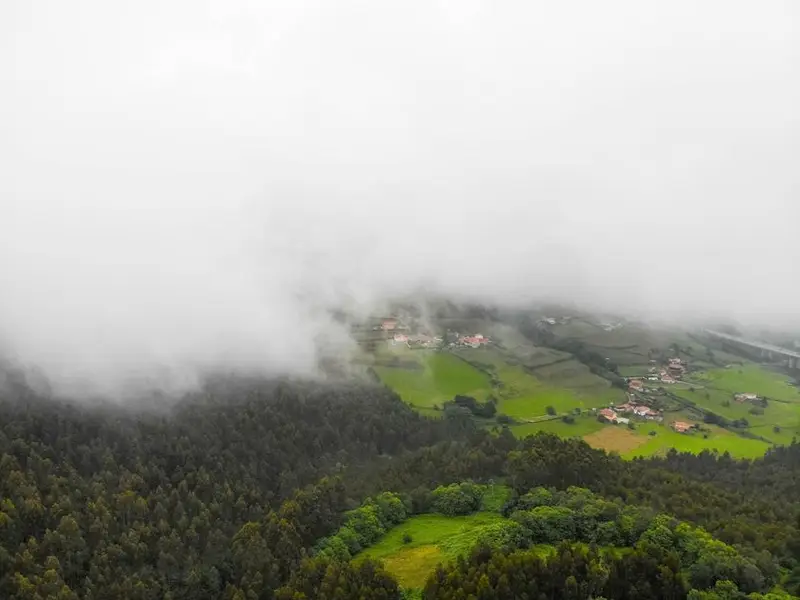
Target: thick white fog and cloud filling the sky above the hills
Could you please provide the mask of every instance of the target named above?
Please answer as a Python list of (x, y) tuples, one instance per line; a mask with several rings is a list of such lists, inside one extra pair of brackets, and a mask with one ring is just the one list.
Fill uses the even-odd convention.
[(800, 322), (800, 8), (5, 0), (0, 344), (306, 372), (413, 289)]

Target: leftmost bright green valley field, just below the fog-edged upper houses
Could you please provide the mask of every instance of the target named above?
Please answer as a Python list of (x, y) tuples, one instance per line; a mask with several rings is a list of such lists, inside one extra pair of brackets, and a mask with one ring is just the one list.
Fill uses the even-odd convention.
[(446, 352), (409, 351), (419, 368), (376, 365), (381, 381), (418, 407), (441, 405), (457, 394), (485, 400), (492, 392), (489, 377)]

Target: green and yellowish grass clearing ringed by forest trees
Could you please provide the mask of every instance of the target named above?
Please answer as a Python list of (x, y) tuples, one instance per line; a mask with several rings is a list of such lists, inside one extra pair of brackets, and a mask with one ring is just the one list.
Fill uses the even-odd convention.
[[(418, 515), (398, 525), (366, 549), (358, 558), (380, 559), (404, 588), (421, 588), (436, 565), (468, 552), (483, 528), (503, 521), (495, 512), (480, 512), (463, 517)], [(403, 543), (403, 535), (411, 542)]]

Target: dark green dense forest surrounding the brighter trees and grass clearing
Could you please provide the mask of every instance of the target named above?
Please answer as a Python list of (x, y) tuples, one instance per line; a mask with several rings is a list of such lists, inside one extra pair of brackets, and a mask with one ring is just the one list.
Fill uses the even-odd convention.
[(434, 491), (466, 480), (510, 486), (509, 517), (536, 508), (531, 490), (585, 488), (596, 502), (669, 515), (671, 535), (677, 523), (702, 528), (747, 569), (692, 580), (695, 558), (668, 544), (629, 535), (614, 543), (631, 552), (612, 559), (576, 534), (549, 560), (526, 542), (478, 546), (443, 565), (426, 598), (800, 594), (800, 445), (756, 461), (623, 461), (578, 440), (478, 431), (457, 413), (426, 419), (377, 386), (220, 379), (162, 410), (6, 391), (0, 597), (399, 598), (380, 564), (321, 552), (321, 540), (368, 497), (394, 507), (390, 526), (400, 508), (386, 494), (403, 514), (449, 510)]

